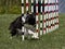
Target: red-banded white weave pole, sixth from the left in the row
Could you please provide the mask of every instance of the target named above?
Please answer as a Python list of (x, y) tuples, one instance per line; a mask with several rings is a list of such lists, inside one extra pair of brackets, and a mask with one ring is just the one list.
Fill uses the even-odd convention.
[(46, 5), (48, 3), (48, 0), (44, 0), (44, 16), (43, 16), (43, 34), (47, 33), (47, 16), (48, 13), (46, 13), (48, 11), (48, 5)]

